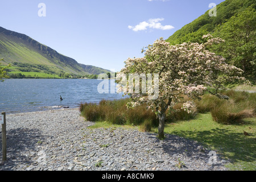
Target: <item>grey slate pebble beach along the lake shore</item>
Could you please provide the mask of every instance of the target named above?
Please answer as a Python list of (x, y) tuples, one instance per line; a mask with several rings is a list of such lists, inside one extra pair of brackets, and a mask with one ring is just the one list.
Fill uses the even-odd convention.
[[(159, 140), (121, 127), (88, 129), (92, 125), (78, 108), (7, 114), (7, 161), (0, 171), (228, 170), (220, 156), (210, 164), (210, 150), (193, 140), (169, 134)], [(2, 161), (2, 138), (0, 145)]]

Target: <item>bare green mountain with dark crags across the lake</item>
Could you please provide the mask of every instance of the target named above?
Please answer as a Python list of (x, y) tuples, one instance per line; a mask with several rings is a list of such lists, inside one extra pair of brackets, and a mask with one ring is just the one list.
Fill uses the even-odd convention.
[[(98, 75), (110, 71), (92, 65), (77, 63), (27, 35), (0, 27), (0, 57), (11, 64), (9, 72), (31, 72), (59, 75)], [(36, 74), (35, 74), (36, 75)]]

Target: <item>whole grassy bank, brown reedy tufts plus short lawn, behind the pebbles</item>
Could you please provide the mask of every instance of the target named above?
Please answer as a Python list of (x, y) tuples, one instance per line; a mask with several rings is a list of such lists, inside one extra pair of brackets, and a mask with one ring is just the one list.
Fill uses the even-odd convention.
[[(188, 114), (181, 104), (168, 111), (165, 133), (197, 140), (231, 160), (230, 170), (255, 170), (256, 93), (223, 92), (229, 100), (205, 94), (195, 100), (196, 108)], [(184, 99), (184, 102), (188, 98)], [(127, 109), (126, 100), (81, 104), (80, 111), (92, 127), (134, 127), (158, 131), (158, 119), (146, 106)]]

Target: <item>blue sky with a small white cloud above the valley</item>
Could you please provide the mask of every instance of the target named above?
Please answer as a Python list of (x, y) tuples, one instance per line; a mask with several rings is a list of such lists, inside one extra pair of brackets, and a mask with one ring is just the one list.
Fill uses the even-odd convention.
[[(119, 71), (129, 57), (143, 57), (143, 47), (167, 39), (210, 3), (223, 1), (0, 0), (0, 26), (79, 63)], [(46, 5), (46, 16), (38, 15), (39, 3)]]

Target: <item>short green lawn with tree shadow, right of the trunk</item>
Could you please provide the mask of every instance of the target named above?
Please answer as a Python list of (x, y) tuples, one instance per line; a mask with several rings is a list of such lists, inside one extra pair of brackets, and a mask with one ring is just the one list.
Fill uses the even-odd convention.
[[(152, 131), (157, 132), (157, 128)], [(231, 160), (232, 163), (226, 166), (230, 170), (256, 169), (256, 118), (247, 118), (240, 125), (223, 125), (214, 122), (209, 113), (198, 114), (191, 121), (169, 123), (164, 131), (197, 140), (211, 150), (218, 151), (222, 157)], [(244, 135), (243, 131), (249, 136)]]

